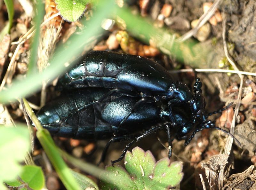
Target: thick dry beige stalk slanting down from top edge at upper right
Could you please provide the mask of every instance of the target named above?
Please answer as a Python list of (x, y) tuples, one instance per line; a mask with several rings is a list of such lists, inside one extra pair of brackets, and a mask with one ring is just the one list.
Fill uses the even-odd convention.
[(220, 4), (220, 0), (215, 0), (215, 2), (212, 4), (211, 8), (205, 12), (199, 19), (198, 23), (195, 28), (189, 30), (187, 33), (180, 36), (176, 42), (181, 43), (190, 38), (191, 36), (195, 35), (199, 28), (201, 28), (210, 18), (212, 18), (212, 15), (214, 15), (218, 5)]

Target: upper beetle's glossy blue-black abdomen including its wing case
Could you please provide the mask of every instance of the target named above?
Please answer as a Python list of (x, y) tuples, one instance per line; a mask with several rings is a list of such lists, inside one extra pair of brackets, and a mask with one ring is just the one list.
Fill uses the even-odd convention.
[(116, 52), (91, 51), (60, 78), (65, 88), (104, 87), (164, 96), (173, 82), (171, 74), (147, 58)]

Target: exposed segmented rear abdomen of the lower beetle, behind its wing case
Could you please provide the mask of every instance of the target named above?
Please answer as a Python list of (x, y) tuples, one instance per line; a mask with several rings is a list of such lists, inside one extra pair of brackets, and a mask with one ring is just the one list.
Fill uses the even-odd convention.
[(52, 135), (97, 139), (98, 129), (95, 126), (100, 126), (96, 122), (101, 121), (101, 127), (105, 129), (104, 131), (108, 131), (102, 138), (111, 137), (113, 135), (111, 124), (100, 120), (99, 115), (95, 114), (94, 105), (91, 105), (108, 91), (108, 89), (87, 89), (68, 92), (39, 110), (37, 117)]

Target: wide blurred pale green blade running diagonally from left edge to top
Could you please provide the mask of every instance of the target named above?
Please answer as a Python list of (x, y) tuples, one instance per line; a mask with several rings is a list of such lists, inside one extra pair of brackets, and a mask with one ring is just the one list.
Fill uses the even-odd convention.
[(92, 19), (84, 24), (87, 28), (80, 36), (72, 36), (71, 44), (68, 48), (58, 47), (51, 65), (47, 67), (40, 75), (33, 73), (28, 75), (25, 80), (14, 81), (12, 87), (6, 91), (0, 92), (0, 102), (7, 103), (17, 97), (25, 97), (40, 89), (42, 81), (52, 80), (63, 73), (67, 68), (64, 66), (72, 57), (76, 57), (83, 51), (84, 44), (89, 44), (90, 38), (96, 34), (102, 33), (100, 23), (114, 9), (112, 1), (102, 1), (94, 13)]

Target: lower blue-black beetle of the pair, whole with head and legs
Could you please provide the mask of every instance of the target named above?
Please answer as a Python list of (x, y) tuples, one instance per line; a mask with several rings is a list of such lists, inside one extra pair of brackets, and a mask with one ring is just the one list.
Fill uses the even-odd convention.
[[(134, 142), (163, 128), (167, 131), (171, 150), (171, 138), (184, 138), (194, 126), (189, 112), (185, 113), (182, 108), (173, 107), (172, 114), (176, 126), (172, 127), (168, 109), (165, 109), (164, 104), (156, 102), (141, 102), (140, 106), (134, 108), (132, 114), (120, 126), (120, 122), (140, 98), (113, 93), (104, 100), (93, 103), (109, 91), (106, 88), (86, 88), (63, 93), (39, 110), (37, 117), (52, 135), (87, 140), (111, 138), (102, 153), (100, 162), (104, 161), (111, 142), (133, 139), (125, 147), (123, 154), (117, 160), (111, 161), (112, 163), (122, 160), (125, 152)], [(205, 127), (211, 127), (211, 124), (201, 125), (201, 128)], [(170, 130), (172, 137), (168, 133)]]

